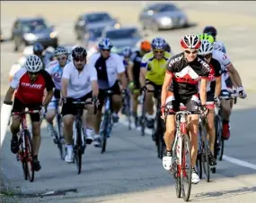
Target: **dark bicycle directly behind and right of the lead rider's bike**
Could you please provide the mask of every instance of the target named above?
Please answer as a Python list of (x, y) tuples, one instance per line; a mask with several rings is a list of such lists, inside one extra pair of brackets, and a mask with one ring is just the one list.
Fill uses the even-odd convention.
[[(207, 117), (205, 114), (200, 114), (199, 116), (199, 149), (197, 157), (197, 171), (199, 173), (199, 178), (202, 178), (202, 173), (204, 171), (207, 182), (210, 181), (210, 164), (209, 164), (209, 144), (207, 140), (207, 130), (206, 130)], [(202, 170), (203, 169), (203, 170)]]

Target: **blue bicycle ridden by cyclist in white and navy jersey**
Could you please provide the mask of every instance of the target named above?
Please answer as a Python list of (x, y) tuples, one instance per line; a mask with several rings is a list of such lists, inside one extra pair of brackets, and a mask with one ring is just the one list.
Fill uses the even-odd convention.
[(113, 127), (112, 121), (112, 90), (106, 90), (105, 93), (107, 94), (105, 101), (104, 101), (104, 114), (103, 114), (103, 121), (101, 124), (101, 140), (102, 140), (102, 154), (106, 151), (107, 146), (107, 139), (110, 137), (110, 133)]

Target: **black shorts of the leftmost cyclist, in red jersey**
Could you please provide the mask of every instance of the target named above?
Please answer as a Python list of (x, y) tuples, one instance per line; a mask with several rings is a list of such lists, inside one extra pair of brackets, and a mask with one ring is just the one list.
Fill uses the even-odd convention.
[[(20, 99), (17, 97), (14, 97), (14, 102), (13, 102), (13, 110), (12, 112), (22, 112), (24, 109), (27, 107), (29, 110), (40, 110), (40, 106), (42, 104), (31, 104), (31, 105), (26, 105), (23, 104)], [(40, 113), (36, 114), (30, 114), (31, 115), (31, 122), (40, 122)]]

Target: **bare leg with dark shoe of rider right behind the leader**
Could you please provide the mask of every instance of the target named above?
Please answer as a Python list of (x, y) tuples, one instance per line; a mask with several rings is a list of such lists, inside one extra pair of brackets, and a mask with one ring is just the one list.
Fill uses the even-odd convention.
[(216, 140), (216, 133), (215, 133), (215, 123), (214, 123), (214, 117), (215, 117), (215, 112), (214, 112), (214, 93), (211, 91), (207, 92), (207, 109), (208, 109), (208, 114), (207, 114), (207, 139), (209, 143), (209, 149), (210, 149), (210, 154), (209, 154), (209, 161), (210, 165), (215, 165), (216, 160), (214, 158), (214, 147), (215, 147), (215, 140)]

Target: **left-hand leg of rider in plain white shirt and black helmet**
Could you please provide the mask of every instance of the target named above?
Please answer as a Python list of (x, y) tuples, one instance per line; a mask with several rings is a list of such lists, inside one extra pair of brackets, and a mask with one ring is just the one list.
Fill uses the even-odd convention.
[(75, 120), (75, 114), (76, 114), (76, 108), (73, 106), (71, 100), (67, 100), (65, 104), (62, 106), (62, 116), (63, 116), (63, 134), (65, 137), (65, 143), (66, 143), (66, 156), (65, 161), (66, 162), (73, 162), (73, 123)]

